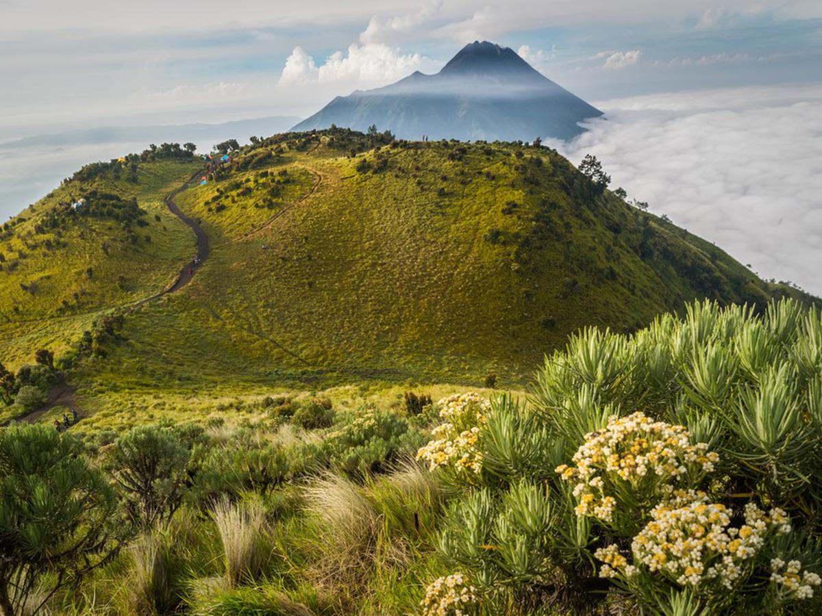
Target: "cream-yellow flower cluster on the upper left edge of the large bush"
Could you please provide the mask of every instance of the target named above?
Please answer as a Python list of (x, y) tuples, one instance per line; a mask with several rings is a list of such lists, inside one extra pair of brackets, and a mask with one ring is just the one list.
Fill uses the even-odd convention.
[(432, 441), (417, 452), (417, 459), (428, 462), (432, 471), (454, 467), (478, 475), (483, 469), (483, 454), (477, 448), (477, 439), (491, 404), (476, 393), (456, 394), (437, 404), (446, 421), (432, 430)]

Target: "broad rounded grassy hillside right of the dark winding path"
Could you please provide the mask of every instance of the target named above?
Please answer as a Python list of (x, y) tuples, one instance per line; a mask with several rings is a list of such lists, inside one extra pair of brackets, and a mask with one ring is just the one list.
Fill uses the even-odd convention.
[(177, 201), (210, 257), (128, 316), (113, 361), (86, 374), (101, 387), (521, 383), (584, 325), (792, 292), (523, 145), (276, 136)]

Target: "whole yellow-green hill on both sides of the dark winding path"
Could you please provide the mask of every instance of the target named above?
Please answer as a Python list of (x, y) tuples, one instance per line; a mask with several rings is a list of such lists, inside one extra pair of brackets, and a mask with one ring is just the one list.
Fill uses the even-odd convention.
[[(695, 297), (798, 294), (552, 150), (332, 129), (257, 141), (176, 195), (210, 255), (191, 283), (135, 308), (193, 254), (164, 198), (203, 167), (149, 158), (78, 172), (3, 227), (4, 363), (59, 355), (126, 309), (118, 340), (74, 379), (99, 391), (490, 373), (519, 384), (587, 324), (630, 331)], [(84, 195), (96, 214), (59, 205)]]

